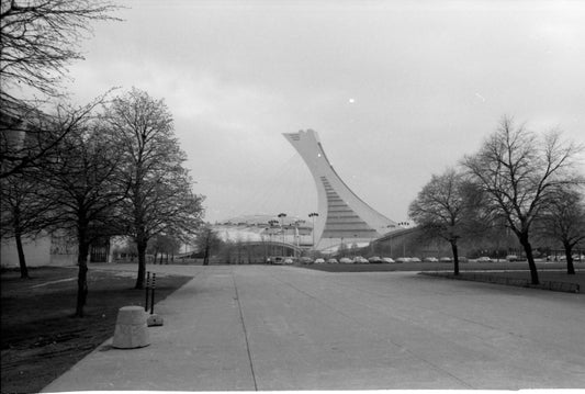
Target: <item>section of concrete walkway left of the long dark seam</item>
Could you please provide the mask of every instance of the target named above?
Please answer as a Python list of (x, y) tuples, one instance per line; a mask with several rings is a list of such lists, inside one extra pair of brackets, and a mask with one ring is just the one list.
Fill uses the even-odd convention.
[(109, 339), (43, 392), (254, 391), (229, 268), (148, 267), (188, 269), (195, 278), (155, 305), (165, 324), (148, 328), (150, 346), (114, 349)]

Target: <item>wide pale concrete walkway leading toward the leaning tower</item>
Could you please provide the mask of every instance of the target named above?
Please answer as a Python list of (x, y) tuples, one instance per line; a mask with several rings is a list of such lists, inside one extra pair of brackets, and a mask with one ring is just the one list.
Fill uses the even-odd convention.
[(148, 269), (194, 275), (157, 304), (151, 345), (108, 341), (44, 392), (585, 389), (583, 294), (414, 272)]

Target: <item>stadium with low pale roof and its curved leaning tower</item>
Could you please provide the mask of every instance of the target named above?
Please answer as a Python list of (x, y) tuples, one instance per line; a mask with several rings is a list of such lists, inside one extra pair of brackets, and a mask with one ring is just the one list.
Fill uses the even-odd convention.
[(224, 241), (282, 247), (283, 256), (314, 250), (335, 252), (341, 246), (365, 247), (405, 228), (361, 200), (333, 168), (317, 133), (312, 130), (283, 136), (308, 167), (317, 190), (318, 210), (311, 219), (280, 215), (241, 215), (214, 224)]

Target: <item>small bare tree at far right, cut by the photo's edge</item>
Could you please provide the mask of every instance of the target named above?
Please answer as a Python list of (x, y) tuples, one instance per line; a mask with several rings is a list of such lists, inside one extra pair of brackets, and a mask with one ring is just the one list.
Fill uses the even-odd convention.
[(575, 274), (573, 248), (585, 240), (585, 198), (583, 189), (560, 188), (537, 222), (541, 237), (549, 237), (563, 245), (566, 273)]

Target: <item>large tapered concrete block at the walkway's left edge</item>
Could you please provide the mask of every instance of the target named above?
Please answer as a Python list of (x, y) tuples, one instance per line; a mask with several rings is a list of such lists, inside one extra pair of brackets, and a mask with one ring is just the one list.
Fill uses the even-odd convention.
[(117, 312), (112, 347), (134, 349), (150, 345), (146, 313), (142, 306), (123, 306)]

